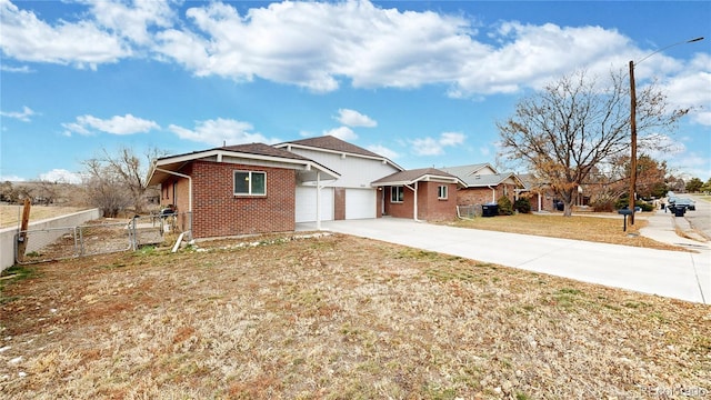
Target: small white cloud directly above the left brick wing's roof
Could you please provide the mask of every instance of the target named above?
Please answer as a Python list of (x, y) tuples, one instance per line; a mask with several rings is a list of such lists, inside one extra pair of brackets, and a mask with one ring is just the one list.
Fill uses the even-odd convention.
[(211, 146), (233, 146), (242, 143), (277, 143), (279, 139), (268, 139), (259, 132), (250, 132), (253, 127), (249, 122), (218, 118), (216, 120), (198, 121), (194, 130), (176, 124), (168, 127), (180, 139), (208, 143)]

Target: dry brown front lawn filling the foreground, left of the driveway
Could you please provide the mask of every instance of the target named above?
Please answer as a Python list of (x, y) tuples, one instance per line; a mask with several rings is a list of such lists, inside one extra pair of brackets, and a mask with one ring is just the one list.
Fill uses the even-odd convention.
[[(12, 399), (689, 399), (711, 308), (341, 234), (11, 271)], [(252, 246), (253, 244), (253, 246)]]

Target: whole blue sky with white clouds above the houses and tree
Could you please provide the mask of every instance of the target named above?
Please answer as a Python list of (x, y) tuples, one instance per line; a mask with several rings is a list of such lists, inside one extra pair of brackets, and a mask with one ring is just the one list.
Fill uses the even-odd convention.
[[(403, 168), (497, 163), (495, 122), (561, 74), (644, 60), (672, 108), (652, 154), (711, 177), (709, 1), (0, 0), (0, 180), (333, 134)], [(523, 172), (523, 171), (518, 171)]]

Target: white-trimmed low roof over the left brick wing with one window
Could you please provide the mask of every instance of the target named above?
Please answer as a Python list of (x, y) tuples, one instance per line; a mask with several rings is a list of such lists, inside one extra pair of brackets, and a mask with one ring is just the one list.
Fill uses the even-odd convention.
[(158, 184), (172, 174), (180, 176), (178, 171), (189, 162), (197, 160), (223, 162), (223, 159), (250, 160), (251, 163), (274, 163), (297, 170), (324, 172), (331, 178), (340, 177), (338, 172), (291, 151), (277, 149), (264, 143), (248, 143), (161, 157), (151, 166), (147, 186)]

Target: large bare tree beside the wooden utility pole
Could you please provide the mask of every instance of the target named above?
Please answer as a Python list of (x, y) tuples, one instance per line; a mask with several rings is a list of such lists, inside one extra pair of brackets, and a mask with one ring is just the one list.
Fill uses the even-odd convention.
[[(521, 100), (513, 117), (497, 123), (501, 156), (549, 182), (565, 216), (593, 169), (609, 169), (630, 148), (629, 88), (623, 72), (610, 77), (603, 87), (584, 71), (565, 76)], [(668, 112), (665, 96), (655, 88), (648, 86), (637, 96), (642, 149), (658, 144), (654, 134), (671, 130), (688, 111)], [(652, 130), (654, 134), (644, 136)]]

